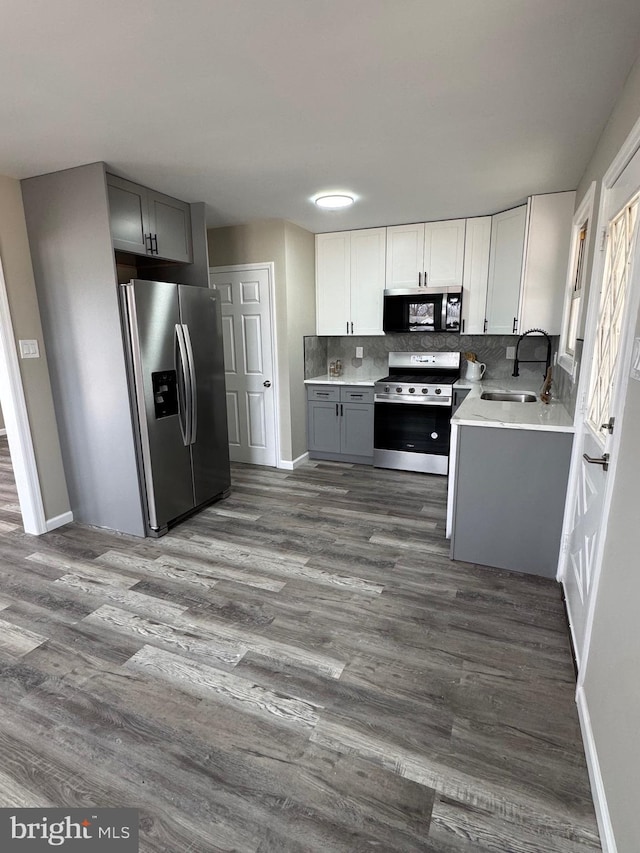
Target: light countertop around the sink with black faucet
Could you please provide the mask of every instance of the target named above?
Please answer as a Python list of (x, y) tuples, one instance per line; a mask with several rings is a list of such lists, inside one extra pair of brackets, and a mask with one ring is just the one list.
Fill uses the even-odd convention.
[[(554, 400), (550, 403), (540, 401), (542, 377), (539, 382), (532, 382), (524, 377), (480, 382), (459, 379), (454, 387), (468, 388), (470, 393), (451, 419), (453, 425), (573, 432), (573, 420), (562, 403)], [(480, 395), (484, 391), (527, 392), (535, 394), (538, 400), (535, 403), (481, 400)]]

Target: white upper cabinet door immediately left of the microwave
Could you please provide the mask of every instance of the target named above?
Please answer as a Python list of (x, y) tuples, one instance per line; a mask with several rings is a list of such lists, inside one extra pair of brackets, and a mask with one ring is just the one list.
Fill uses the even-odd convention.
[[(351, 319), (354, 335), (382, 335), (386, 228), (351, 231)], [(351, 325), (353, 324), (353, 325)]]

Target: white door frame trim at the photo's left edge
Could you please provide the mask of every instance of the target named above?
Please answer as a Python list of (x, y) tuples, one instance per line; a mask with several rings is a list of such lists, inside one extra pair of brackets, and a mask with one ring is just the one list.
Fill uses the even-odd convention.
[(1, 258), (0, 401), (2, 401), (11, 465), (18, 491), (22, 525), (25, 533), (39, 536), (47, 532), (47, 522)]

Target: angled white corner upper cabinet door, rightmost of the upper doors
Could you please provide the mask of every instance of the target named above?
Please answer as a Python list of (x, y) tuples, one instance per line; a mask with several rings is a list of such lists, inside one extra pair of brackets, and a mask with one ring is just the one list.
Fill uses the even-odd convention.
[(491, 217), (487, 333), (517, 335), (527, 205)]

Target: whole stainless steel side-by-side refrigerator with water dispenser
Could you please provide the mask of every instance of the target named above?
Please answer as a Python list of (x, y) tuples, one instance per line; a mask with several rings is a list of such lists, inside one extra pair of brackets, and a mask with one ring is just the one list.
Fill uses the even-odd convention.
[(138, 279), (121, 287), (147, 532), (161, 535), (229, 493), (219, 293)]

